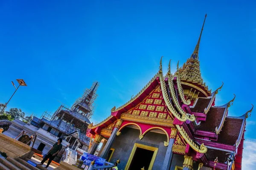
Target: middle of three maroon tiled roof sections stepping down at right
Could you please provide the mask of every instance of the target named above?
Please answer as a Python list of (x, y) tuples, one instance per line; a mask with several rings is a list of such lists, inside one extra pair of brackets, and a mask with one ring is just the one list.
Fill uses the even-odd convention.
[(201, 121), (201, 124), (196, 126), (196, 129), (215, 132), (215, 128), (221, 124), (224, 111), (225, 108), (223, 107), (211, 107), (207, 113), (206, 121)]

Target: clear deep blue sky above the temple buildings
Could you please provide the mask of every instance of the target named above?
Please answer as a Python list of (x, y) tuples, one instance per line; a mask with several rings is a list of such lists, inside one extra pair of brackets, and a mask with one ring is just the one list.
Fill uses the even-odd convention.
[[(201, 38), (201, 72), (210, 89), (224, 81), (216, 104), (236, 94), (229, 115), (239, 116), (255, 99), (256, 3), (247, 1), (0, 1), (0, 102), (15, 90), (8, 108), (28, 114), (71, 106), (99, 81), (92, 121), (102, 121), (113, 106), (126, 103), (158, 71), (184, 63)], [(181, 65), (181, 64), (180, 64)], [(16, 83), (16, 82), (15, 82)], [(17, 84), (17, 83), (16, 83)], [(256, 136), (256, 114), (246, 138)], [(255, 141), (253, 141), (255, 142)]]

